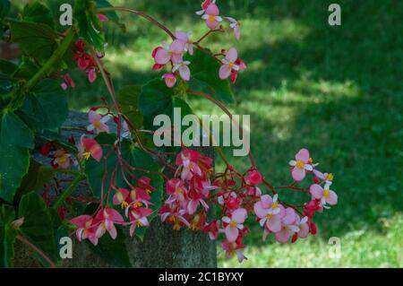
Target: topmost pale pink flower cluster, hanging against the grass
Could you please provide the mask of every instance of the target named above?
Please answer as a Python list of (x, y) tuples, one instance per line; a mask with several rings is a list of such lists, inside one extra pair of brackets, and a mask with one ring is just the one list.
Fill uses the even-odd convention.
[[(201, 15), (201, 18), (206, 21), (207, 27), (210, 29), (201, 39), (210, 35), (211, 31), (220, 31), (217, 29), (219, 23), (225, 19), (229, 22), (229, 26), (234, 30), (236, 39), (240, 39), (241, 30), (240, 23), (234, 18), (219, 16), (219, 7), (215, 4), (215, 1), (206, 0), (201, 4), (202, 10), (197, 12)], [(236, 48), (229, 48), (227, 50), (222, 49), (218, 55), (213, 55), (201, 48), (201, 39), (193, 41), (191, 39), (191, 33), (185, 33), (184, 31), (176, 31), (172, 37), (172, 42), (163, 46), (154, 48), (151, 56), (154, 59), (153, 70), (160, 70), (166, 65), (170, 65), (169, 73), (162, 75), (162, 79), (165, 80), (167, 87), (172, 88), (176, 85), (177, 77), (180, 76), (182, 80), (188, 82), (191, 77), (191, 70), (189, 65), (190, 61), (184, 60), (185, 53), (193, 55), (193, 48), (199, 48), (202, 52), (212, 56), (215, 60), (219, 61), (221, 67), (219, 69), (219, 78), (226, 80), (231, 77), (231, 82), (236, 82), (236, 77), (239, 71), (244, 70), (246, 65), (244, 61), (238, 59), (238, 53)], [(224, 58), (219, 59), (219, 56)]]

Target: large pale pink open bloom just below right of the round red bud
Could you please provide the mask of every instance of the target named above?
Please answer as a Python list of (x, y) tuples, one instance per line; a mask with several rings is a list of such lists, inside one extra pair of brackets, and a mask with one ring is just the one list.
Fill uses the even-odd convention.
[(261, 226), (272, 232), (278, 232), (281, 230), (281, 218), (285, 215), (285, 209), (281, 204), (277, 204), (277, 197), (276, 202), (273, 201), (270, 195), (262, 195), (261, 201), (253, 205), (253, 211), (261, 219), (259, 221)]

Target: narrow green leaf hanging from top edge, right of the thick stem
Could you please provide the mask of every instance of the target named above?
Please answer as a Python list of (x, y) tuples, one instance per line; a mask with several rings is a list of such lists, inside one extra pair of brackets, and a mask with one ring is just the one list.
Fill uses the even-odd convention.
[(79, 29), (79, 36), (97, 50), (103, 51), (105, 39), (102, 24), (97, 16), (95, 1), (75, 1), (73, 13)]

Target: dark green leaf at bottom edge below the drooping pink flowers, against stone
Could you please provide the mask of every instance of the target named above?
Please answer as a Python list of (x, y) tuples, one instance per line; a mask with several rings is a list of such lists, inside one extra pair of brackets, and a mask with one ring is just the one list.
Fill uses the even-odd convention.
[(133, 267), (130, 262), (129, 255), (127, 253), (127, 247), (125, 244), (125, 235), (119, 227), (116, 227), (117, 237), (112, 239), (108, 234), (99, 238), (98, 245), (94, 247), (88, 240), (87, 245), (97, 255), (99, 255), (107, 264), (112, 264), (116, 267)]

